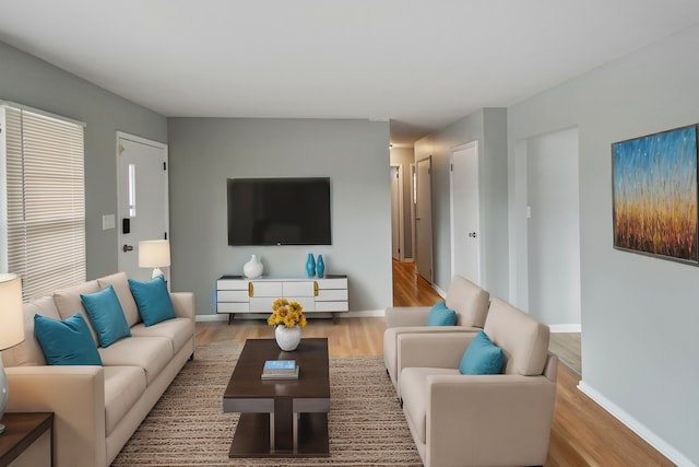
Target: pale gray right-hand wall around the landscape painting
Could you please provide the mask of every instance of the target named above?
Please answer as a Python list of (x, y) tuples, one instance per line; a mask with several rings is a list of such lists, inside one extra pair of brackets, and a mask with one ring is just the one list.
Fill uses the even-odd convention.
[(699, 121), (697, 44), (695, 26), (508, 109), (512, 167), (523, 140), (579, 129), (582, 386), (684, 465), (699, 464), (699, 268), (612, 247), (611, 144)]

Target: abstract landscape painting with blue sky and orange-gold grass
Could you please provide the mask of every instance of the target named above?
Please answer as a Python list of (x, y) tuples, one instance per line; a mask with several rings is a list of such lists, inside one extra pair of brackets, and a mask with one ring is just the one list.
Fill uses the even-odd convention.
[(614, 247), (697, 265), (697, 127), (612, 144)]

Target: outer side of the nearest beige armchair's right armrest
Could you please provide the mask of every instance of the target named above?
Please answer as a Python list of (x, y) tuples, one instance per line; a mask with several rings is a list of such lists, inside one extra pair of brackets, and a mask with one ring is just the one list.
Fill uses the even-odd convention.
[(427, 464), (546, 462), (555, 382), (546, 376), (431, 375), (427, 386)]

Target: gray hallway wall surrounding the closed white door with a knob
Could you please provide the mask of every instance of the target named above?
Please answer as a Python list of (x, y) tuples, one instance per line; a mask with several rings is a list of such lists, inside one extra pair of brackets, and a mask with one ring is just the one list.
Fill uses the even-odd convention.
[(507, 110), (484, 108), (415, 142), (415, 160), (433, 156), (434, 282), (447, 291), (451, 282), (449, 157), (452, 148), (478, 141), (481, 231), (485, 243), (483, 285), (491, 295), (507, 297), (508, 156)]

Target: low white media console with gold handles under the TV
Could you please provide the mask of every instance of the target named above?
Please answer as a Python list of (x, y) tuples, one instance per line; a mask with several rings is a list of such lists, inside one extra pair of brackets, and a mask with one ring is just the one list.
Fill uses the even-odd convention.
[(321, 278), (262, 276), (223, 276), (216, 280), (216, 313), (228, 314), (228, 323), (237, 314), (272, 313), (276, 299), (298, 302), (304, 313), (347, 312), (347, 276), (325, 275)]

